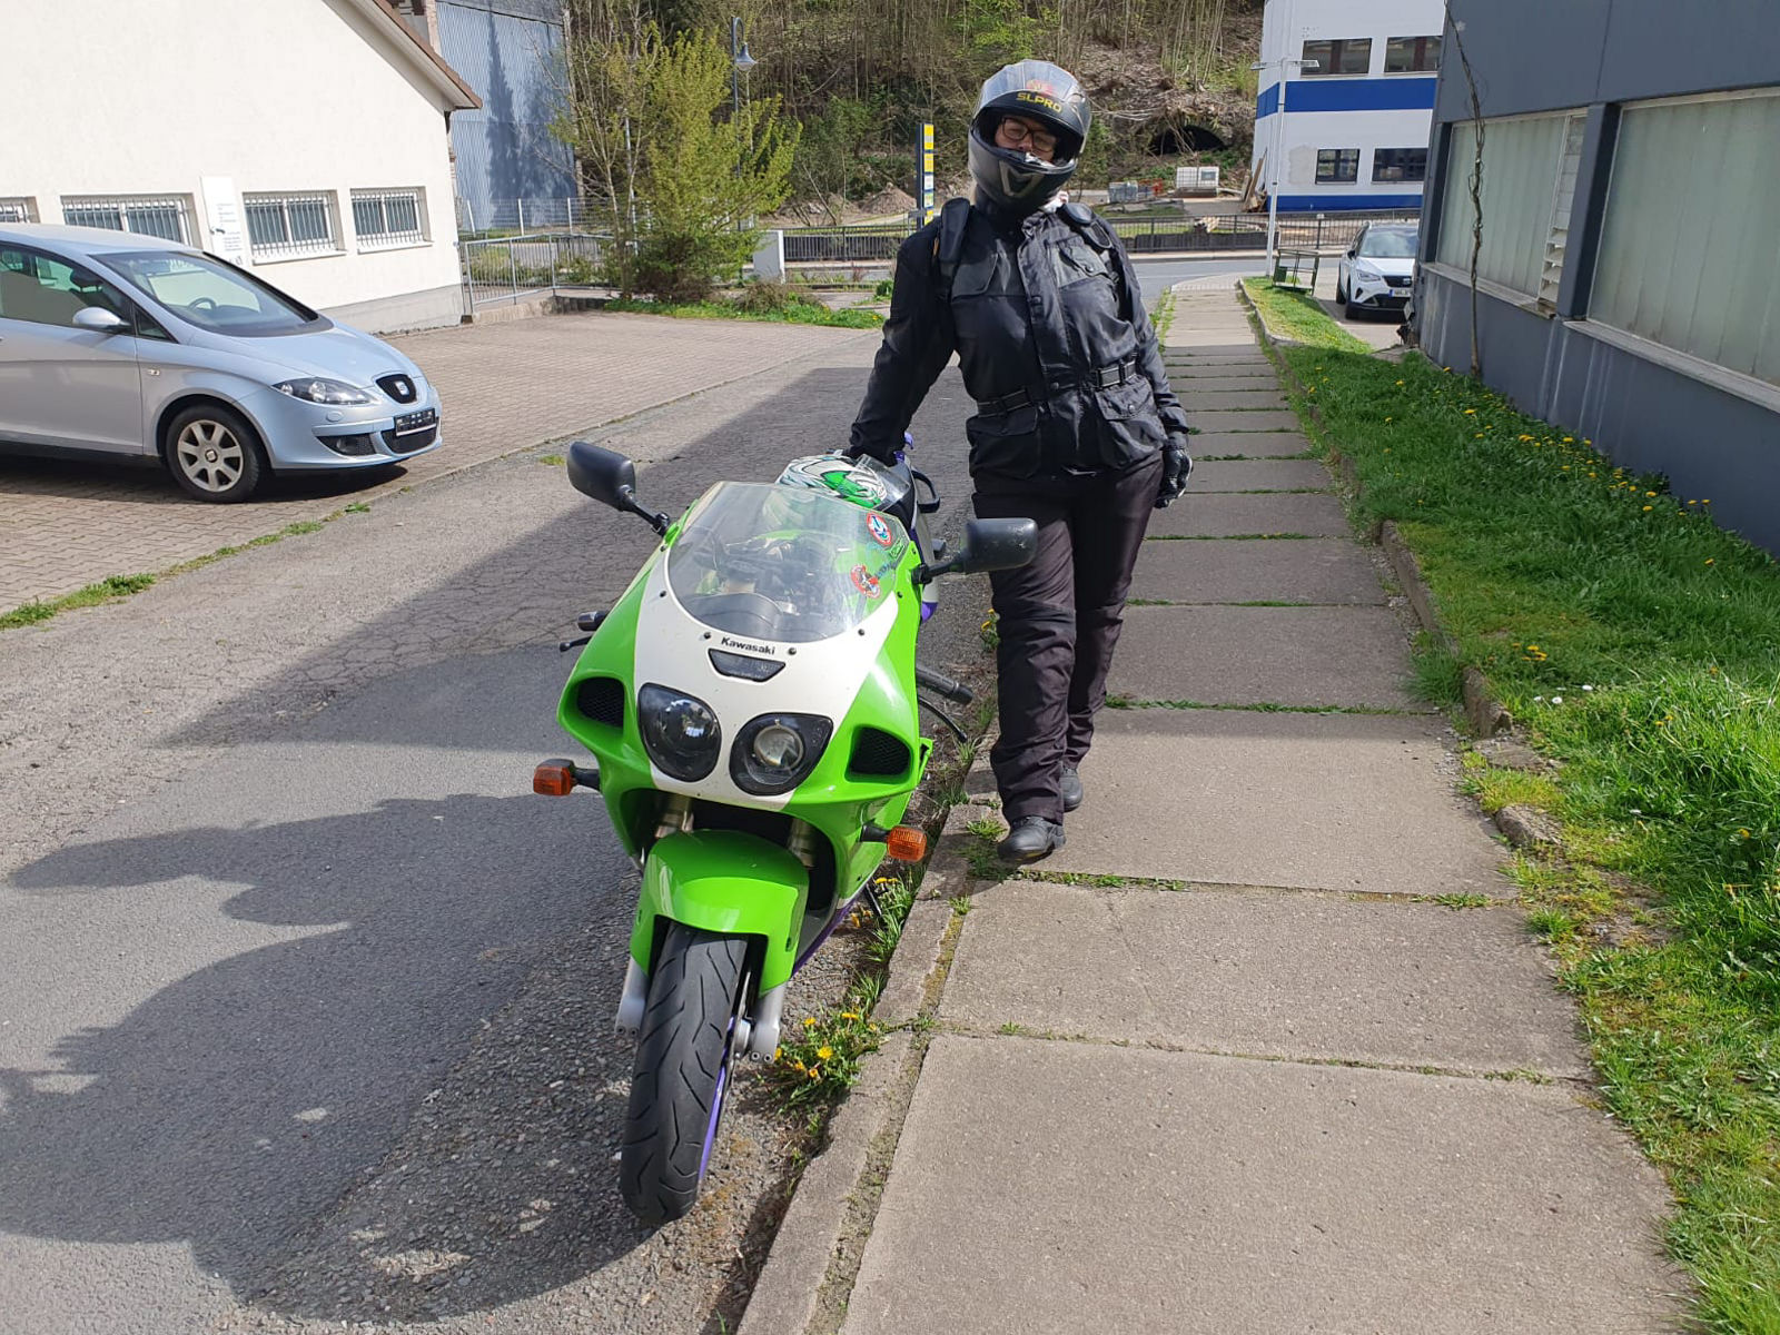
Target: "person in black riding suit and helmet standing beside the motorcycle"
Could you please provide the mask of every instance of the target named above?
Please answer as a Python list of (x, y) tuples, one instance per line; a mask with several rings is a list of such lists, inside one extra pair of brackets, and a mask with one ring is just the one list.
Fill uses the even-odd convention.
[(1088, 126), (1086, 94), (1054, 64), (1020, 61), (983, 84), (975, 199), (947, 201), (897, 253), (847, 445), (892, 459), (956, 351), (977, 404), (965, 424), (975, 511), (1038, 522), (1034, 561), (990, 577), (1000, 634), (990, 760), (1011, 862), (1063, 846), (1150, 513), (1193, 470), (1130, 260), (1105, 221), (1063, 196)]

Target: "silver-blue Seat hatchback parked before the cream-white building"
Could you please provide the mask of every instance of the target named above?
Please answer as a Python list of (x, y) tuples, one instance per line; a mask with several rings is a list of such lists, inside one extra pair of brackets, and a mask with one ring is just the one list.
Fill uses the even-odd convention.
[(0, 222), (0, 441), (158, 456), (199, 500), (440, 445), (420, 368), (158, 237)]

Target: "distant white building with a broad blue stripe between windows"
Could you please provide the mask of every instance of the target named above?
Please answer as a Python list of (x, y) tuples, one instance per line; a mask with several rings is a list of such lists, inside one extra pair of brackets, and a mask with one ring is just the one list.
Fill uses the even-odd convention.
[(1280, 208), (1422, 206), (1444, 21), (1442, 0), (1267, 0), (1253, 169)]

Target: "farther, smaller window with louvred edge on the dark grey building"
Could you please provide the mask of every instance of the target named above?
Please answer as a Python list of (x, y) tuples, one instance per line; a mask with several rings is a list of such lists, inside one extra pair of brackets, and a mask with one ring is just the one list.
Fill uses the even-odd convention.
[[(1483, 247), (1477, 253), (1477, 276), (1529, 299), (1541, 290), (1574, 119), (1581, 116), (1558, 112), (1485, 121)], [(1435, 249), (1440, 263), (1465, 271), (1470, 269), (1472, 226), (1477, 217), (1470, 203), (1476, 144), (1476, 121), (1452, 126), (1445, 162), (1445, 206)]]

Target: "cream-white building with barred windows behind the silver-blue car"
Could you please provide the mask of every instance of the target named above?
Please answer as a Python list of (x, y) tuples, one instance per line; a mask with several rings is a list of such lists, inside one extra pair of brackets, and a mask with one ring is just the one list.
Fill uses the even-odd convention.
[(479, 101), (386, 0), (5, 18), (0, 219), (185, 240), (374, 331), (459, 319), (447, 126)]

